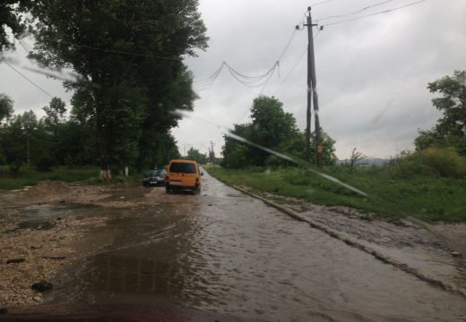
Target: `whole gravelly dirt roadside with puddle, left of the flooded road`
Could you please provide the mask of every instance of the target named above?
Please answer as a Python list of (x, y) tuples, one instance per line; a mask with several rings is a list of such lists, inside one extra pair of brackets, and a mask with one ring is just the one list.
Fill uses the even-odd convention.
[[(84, 235), (106, 225), (107, 217), (67, 216), (65, 205), (99, 205), (111, 196), (110, 190), (40, 182), (23, 191), (0, 195), (0, 307), (40, 303), (42, 293), (31, 285), (51, 281), (59, 269), (95, 251), (78, 251), (75, 246)], [(120, 203), (114, 201), (108, 207)], [(54, 215), (55, 208), (63, 208), (65, 216)], [(42, 287), (47, 288), (47, 284)]]

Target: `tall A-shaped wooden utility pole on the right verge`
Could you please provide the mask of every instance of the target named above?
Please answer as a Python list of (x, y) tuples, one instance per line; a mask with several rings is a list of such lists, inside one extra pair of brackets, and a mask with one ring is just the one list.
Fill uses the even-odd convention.
[[(315, 149), (317, 152), (317, 166), (323, 165), (323, 147), (322, 147), (322, 133), (319, 122), (319, 99), (317, 97), (317, 80), (315, 77), (315, 55), (314, 55), (314, 35), (313, 27), (317, 24), (312, 23), (311, 7), (307, 7), (306, 24), (307, 27), (307, 111), (306, 111), (306, 158), (311, 161), (311, 97), (314, 106), (315, 115)], [(299, 30), (299, 26), (297, 26)], [(322, 30), (322, 27), (321, 27)]]

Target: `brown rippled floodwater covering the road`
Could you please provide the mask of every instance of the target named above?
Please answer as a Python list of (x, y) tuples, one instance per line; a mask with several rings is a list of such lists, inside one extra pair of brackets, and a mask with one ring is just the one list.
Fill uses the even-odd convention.
[(124, 197), (145, 204), (111, 210), (82, 247), (111, 245), (61, 272), (49, 303), (175, 305), (268, 321), (466, 320), (461, 297), (209, 175), (202, 195), (137, 191)]

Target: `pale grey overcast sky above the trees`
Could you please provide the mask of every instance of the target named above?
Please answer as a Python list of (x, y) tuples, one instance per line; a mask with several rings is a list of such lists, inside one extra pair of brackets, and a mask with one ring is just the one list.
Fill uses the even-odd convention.
[[(186, 64), (195, 80), (211, 76), (223, 61), (246, 75), (262, 74), (278, 59), (294, 26), (303, 21), (306, 7), (317, 2), (321, 1), (200, 0), (210, 47), (199, 57), (187, 59)], [(333, 0), (313, 7), (313, 19), (353, 13), (381, 2)], [(393, 0), (320, 24), (412, 2), (415, 0)], [(464, 17), (464, 0), (427, 0), (392, 13), (326, 26), (318, 34), (315, 63), (321, 125), (336, 140), (338, 157), (349, 157), (354, 147), (370, 157), (393, 156), (413, 148), (418, 129), (429, 129), (436, 123), (439, 114), (430, 102), (427, 83), (466, 69)], [(302, 56), (306, 41), (306, 30), (296, 32), (280, 61), (280, 73), (275, 72), (263, 89), (264, 95), (280, 99), (302, 130), (306, 126), (306, 55)], [(25, 55), (18, 46), (9, 56), (25, 64)], [(69, 101), (71, 93), (65, 93), (60, 81), (20, 71), (47, 92)], [(40, 114), (50, 99), (47, 95), (5, 64), (0, 64), (0, 75), (0, 92), (13, 97), (17, 112), (32, 109)], [(287, 75), (288, 80), (278, 90)], [(184, 119), (173, 130), (180, 152), (184, 153), (185, 145), (206, 152), (212, 140), (219, 153), (223, 145), (220, 130), (197, 117), (227, 127), (249, 122), (246, 112), (262, 88), (248, 88), (224, 70), (213, 83), (201, 81), (195, 89), (200, 97), (195, 102), (195, 117)]]

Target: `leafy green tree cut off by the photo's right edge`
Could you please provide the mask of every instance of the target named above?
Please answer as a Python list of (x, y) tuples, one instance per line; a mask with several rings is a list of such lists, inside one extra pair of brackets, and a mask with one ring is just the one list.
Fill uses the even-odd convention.
[(453, 147), (466, 156), (466, 71), (456, 71), (428, 84), (431, 93), (443, 94), (432, 99), (432, 103), (443, 113), (431, 131), (419, 131), (416, 148), (431, 146)]

